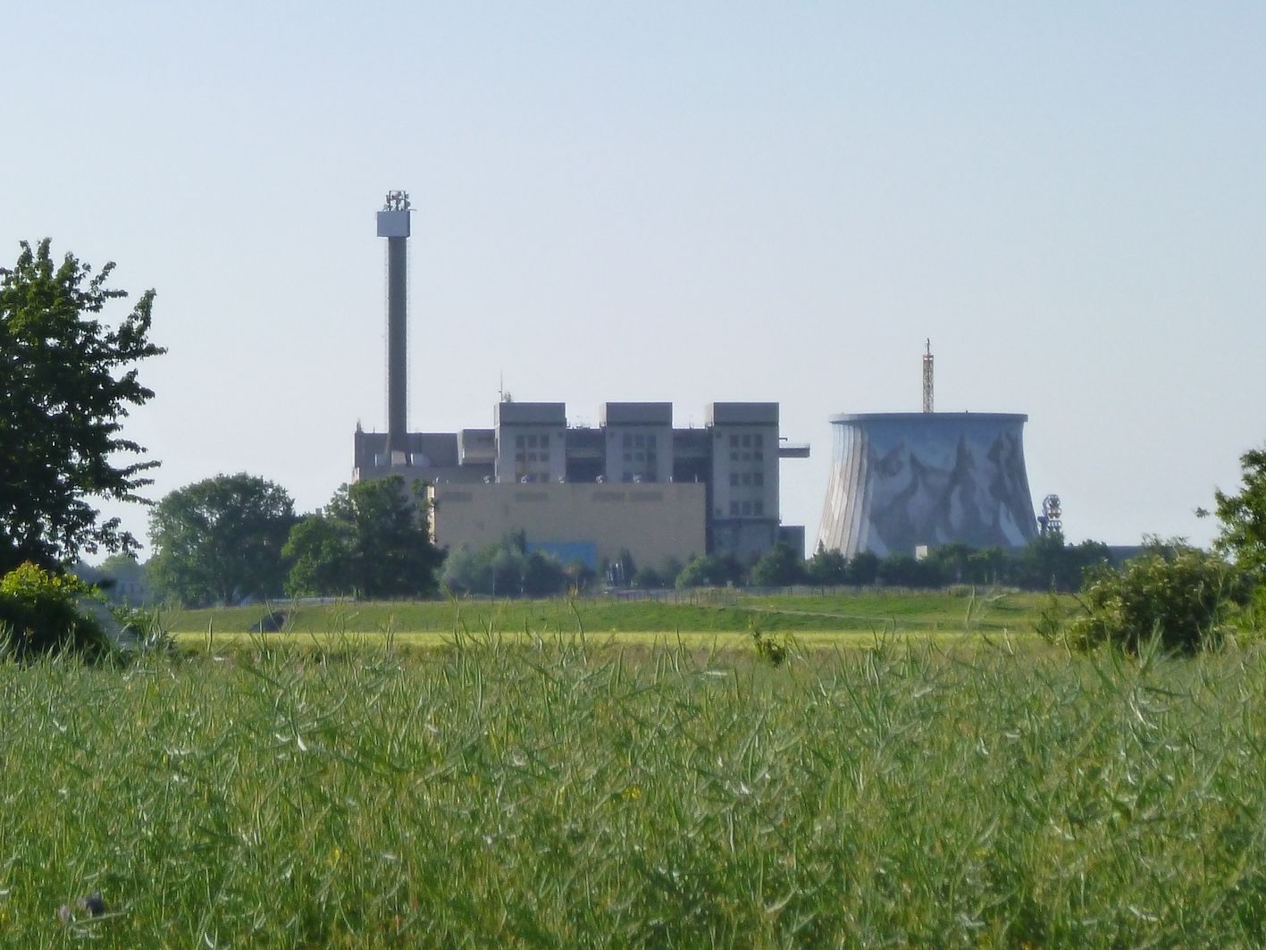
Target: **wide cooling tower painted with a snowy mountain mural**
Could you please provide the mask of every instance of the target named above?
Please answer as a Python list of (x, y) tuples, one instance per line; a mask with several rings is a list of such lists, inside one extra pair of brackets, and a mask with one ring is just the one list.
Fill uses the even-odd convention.
[(1027, 415), (837, 415), (819, 542), (847, 557), (919, 545), (1020, 547), (1037, 535), (1024, 470)]

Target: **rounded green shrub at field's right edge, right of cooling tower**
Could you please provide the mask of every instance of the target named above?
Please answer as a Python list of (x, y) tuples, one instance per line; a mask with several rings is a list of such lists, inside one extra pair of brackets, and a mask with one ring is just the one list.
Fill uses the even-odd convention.
[(1137, 652), (1158, 637), (1167, 651), (1193, 654), (1220, 646), (1250, 590), (1222, 557), (1181, 542), (1153, 545), (1120, 571), (1091, 567), (1081, 589), (1086, 608), (1069, 627), (1069, 643), (1101, 643)]

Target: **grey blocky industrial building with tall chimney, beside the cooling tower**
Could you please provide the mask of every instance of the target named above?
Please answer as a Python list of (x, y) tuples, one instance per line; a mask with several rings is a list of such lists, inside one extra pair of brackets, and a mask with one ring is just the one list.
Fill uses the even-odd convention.
[(522, 532), (530, 550), (598, 566), (729, 555), (749, 561), (804, 528), (779, 518), (786, 445), (777, 403), (711, 403), (701, 428), (675, 428), (670, 403), (606, 403), (596, 427), (567, 424), (563, 403), (499, 402), (491, 428), (409, 432), (406, 407), (409, 196), (377, 214), (387, 239), (387, 432), (354, 436), (353, 478), (401, 475), (433, 502), (436, 543), (480, 547)]

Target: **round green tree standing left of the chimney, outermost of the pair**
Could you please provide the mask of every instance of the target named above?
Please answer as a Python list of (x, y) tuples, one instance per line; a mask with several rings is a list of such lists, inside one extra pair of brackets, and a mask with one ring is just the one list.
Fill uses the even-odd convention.
[(216, 475), (179, 488), (149, 513), (149, 579), (185, 604), (235, 603), (282, 593), (282, 548), (295, 503), (258, 475)]

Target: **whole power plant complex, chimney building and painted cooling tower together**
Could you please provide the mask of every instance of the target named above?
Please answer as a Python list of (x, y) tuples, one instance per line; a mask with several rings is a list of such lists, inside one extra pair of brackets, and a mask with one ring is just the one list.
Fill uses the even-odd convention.
[[(699, 554), (749, 561), (804, 528), (779, 518), (784, 443), (777, 403), (711, 403), (703, 428), (675, 428), (670, 403), (606, 403), (598, 427), (570, 427), (563, 403), (503, 400), (491, 428), (409, 432), (405, 418), (409, 196), (377, 215), (387, 238), (387, 432), (357, 426), (354, 478), (427, 484), (437, 543), (528, 546), (596, 566), (629, 551), (644, 565)], [(836, 415), (818, 543), (852, 557), (950, 542), (1019, 547), (1037, 533), (1024, 469), (1028, 417), (933, 412)]]

